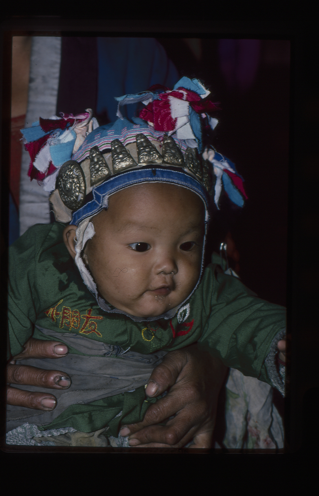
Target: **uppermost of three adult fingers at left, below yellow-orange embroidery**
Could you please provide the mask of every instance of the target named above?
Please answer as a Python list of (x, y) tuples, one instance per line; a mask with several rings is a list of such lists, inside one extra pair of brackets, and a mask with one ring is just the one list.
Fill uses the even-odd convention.
[(59, 341), (45, 341), (30, 338), (24, 345), (24, 350), (13, 357), (14, 360), (26, 358), (61, 358), (68, 354), (68, 347)]

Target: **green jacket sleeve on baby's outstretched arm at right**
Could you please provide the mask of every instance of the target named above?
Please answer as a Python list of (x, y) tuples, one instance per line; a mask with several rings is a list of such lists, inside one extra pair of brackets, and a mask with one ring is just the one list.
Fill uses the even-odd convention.
[(216, 266), (202, 291), (208, 317), (200, 346), (227, 367), (273, 385), (265, 361), (275, 336), (286, 325), (285, 309), (257, 298), (239, 279), (218, 272)]

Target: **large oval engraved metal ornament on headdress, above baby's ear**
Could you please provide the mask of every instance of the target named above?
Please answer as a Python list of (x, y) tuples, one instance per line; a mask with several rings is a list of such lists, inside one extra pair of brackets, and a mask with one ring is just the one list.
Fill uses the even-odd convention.
[(86, 192), (85, 177), (75, 160), (68, 160), (61, 166), (56, 179), (56, 187), (67, 208), (74, 211), (82, 206)]

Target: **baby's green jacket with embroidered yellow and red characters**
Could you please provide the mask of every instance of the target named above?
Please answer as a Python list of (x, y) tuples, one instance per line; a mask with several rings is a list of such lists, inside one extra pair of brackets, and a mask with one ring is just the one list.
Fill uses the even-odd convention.
[[(65, 248), (64, 227), (35, 225), (10, 247), (8, 358), (21, 352), (32, 335), (50, 339), (34, 327), (38, 325), (143, 354), (198, 342), (227, 367), (271, 384), (265, 359), (272, 340), (285, 327), (284, 308), (257, 298), (237, 278), (210, 264), (198, 289), (170, 320), (135, 322), (107, 313), (84, 285)], [(142, 387), (89, 405), (73, 405), (46, 429), (92, 432), (109, 425), (109, 433), (117, 435), (121, 425), (142, 420), (150, 401), (156, 400), (146, 399)]]

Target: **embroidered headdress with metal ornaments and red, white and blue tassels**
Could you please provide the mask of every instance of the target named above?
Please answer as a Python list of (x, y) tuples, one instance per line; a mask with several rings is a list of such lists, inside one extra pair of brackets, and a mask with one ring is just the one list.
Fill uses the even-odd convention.
[[(112, 124), (99, 127), (87, 109), (76, 116), (40, 119), (22, 130), (31, 156), (30, 179), (53, 191), (50, 201), (57, 221), (78, 226), (75, 262), (104, 310), (123, 313), (110, 309), (99, 296), (81, 252), (94, 235), (90, 219), (107, 208), (111, 194), (140, 183), (186, 187), (204, 201), (206, 225), (210, 196), (219, 208), (222, 185), (231, 201), (244, 204), (243, 180), (234, 164), (213, 146), (203, 145), (203, 129), (213, 129), (218, 122), (210, 115), (218, 106), (207, 100), (209, 94), (199, 80), (182, 77), (173, 90), (155, 85), (148, 91), (117, 97), (118, 119)], [(123, 118), (120, 107), (135, 102), (142, 102), (145, 108), (130, 122)], [(170, 318), (176, 310), (160, 317)]]

